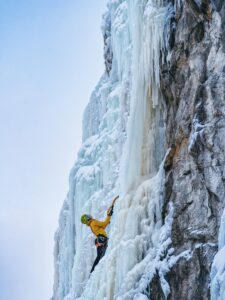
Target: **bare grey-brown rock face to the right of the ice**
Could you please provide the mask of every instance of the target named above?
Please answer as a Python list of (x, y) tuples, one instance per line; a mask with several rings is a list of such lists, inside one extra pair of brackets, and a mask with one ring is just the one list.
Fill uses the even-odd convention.
[[(167, 104), (164, 215), (174, 204), (168, 299), (210, 299), (210, 268), (225, 206), (225, 3), (176, 1), (167, 24), (169, 63), (161, 65)], [(169, 28), (169, 29), (168, 29)], [(164, 299), (157, 278), (151, 299)], [(155, 292), (159, 291), (159, 292)]]

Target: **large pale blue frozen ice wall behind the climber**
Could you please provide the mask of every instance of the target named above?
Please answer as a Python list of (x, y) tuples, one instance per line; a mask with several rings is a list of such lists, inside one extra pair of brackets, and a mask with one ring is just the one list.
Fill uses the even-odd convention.
[[(83, 145), (55, 235), (54, 300), (145, 299), (170, 244), (172, 206), (162, 221), (165, 109), (159, 64), (167, 7), (162, 0), (111, 0), (103, 17), (106, 73), (83, 119)], [(88, 213), (102, 219), (120, 194), (105, 257), (89, 278), (96, 249)]]

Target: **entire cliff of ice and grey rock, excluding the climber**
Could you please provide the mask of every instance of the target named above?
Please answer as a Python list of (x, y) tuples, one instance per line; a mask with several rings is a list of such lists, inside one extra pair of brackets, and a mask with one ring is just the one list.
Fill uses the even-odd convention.
[[(60, 214), (53, 299), (225, 299), (225, 4), (111, 0), (102, 31), (106, 71)], [(89, 278), (80, 216), (103, 219), (116, 194)]]

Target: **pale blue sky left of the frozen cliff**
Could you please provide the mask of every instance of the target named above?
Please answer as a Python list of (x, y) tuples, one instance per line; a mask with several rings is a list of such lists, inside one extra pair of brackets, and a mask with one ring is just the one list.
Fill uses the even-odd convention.
[(103, 72), (106, 0), (0, 0), (0, 299), (52, 294), (53, 235)]

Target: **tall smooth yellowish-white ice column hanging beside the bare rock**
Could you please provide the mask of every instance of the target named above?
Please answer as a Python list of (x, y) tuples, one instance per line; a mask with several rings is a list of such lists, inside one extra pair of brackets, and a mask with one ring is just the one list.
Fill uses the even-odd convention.
[(166, 8), (162, 1), (128, 3), (133, 50), (130, 118), (120, 175), (123, 195), (141, 176), (156, 172), (165, 154), (159, 65)]

